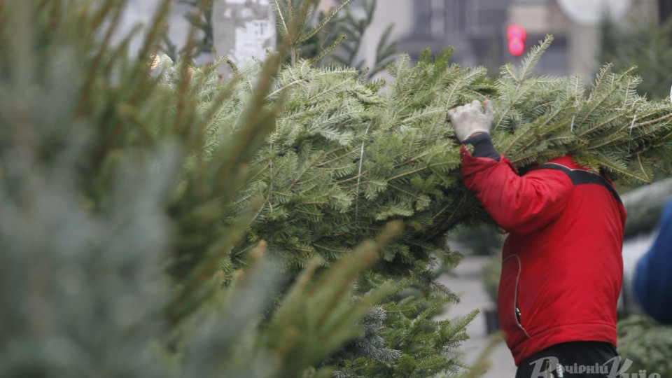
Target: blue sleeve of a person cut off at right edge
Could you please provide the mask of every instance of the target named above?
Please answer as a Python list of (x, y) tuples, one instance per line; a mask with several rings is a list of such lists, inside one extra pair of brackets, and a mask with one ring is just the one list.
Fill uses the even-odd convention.
[(672, 200), (666, 204), (651, 249), (637, 263), (634, 291), (647, 314), (672, 324)]

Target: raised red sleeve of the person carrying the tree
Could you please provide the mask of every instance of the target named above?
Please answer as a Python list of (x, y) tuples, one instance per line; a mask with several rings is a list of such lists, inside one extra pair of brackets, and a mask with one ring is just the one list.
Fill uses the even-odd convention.
[(568, 202), (573, 184), (564, 172), (539, 169), (519, 176), (503, 156), (475, 158), (464, 146), (460, 155), (464, 185), (507, 232), (538, 230), (554, 221)]

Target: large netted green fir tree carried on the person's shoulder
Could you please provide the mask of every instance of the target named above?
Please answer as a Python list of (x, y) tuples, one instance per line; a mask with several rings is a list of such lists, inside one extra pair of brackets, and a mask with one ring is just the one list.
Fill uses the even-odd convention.
[[(428, 275), (433, 257), (447, 256), (447, 230), (488, 218), (460, 184), (458, 141), (446, 123), (449, 109), (474, 99), (493, 99), (494, 144), (519, 169), (572, 155), (616, 181), (647, 182), (652, 169), (669, 167), (672, 104), (647, 101), (635, 92), (640, 78), (610, 66), (589, 93), (578, 77), (532, 76), (551, 41), (496, 80), (449, 64), (450, 51), (435, 59), (426, 52), (415, 66), (400, 58), (388, 66), (389, 84), (363, 82), (348, 68), (284, 66), (267, 97), (283, 102), (276, 127), (237, 200), (239, 209), (253, 199), (261, 205), (226, 269), (244, 264), (260, 239), (289, 269), (313, 255), (337, 260), (387, 221), (402, 220), (405, 232), (384, 250), (379, 271)], [(238, 127), (255, 67), (242, 72), (212, 119), (209, 146)]]

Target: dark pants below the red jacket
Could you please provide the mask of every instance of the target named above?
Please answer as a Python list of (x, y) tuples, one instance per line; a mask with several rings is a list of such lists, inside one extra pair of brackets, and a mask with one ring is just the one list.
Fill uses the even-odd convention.
[[(618, 370), (618, 354), (608, 342), (563, 342), (527, 358), (516, 378), (603, 378)], [(559, 374), (557, 366), (562, 365)], [(596, 365), (597, 364), (597, 365)]]

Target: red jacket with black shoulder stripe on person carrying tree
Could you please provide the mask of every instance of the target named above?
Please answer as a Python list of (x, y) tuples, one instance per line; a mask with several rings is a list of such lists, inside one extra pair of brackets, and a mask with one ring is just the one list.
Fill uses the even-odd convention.
[(561, 342), (615, 346), (626, 214), (612, 184), (567, 156), (524, 176), (503, 156), (463, 146), (461, 158), (465, 186), (509, 232), (497, 307), (516, 365)]

